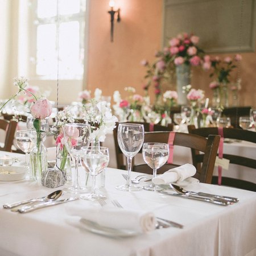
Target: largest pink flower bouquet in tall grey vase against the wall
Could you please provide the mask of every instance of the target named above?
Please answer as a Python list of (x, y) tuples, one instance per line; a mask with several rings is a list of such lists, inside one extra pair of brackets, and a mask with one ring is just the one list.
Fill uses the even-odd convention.
[(193, 34), (179, 34), (171, 38), (169, 46), (162, 52), (156, 53), (158, 59), (153, 64), (148, 61), (142, 61), (142, 64), (148, 67), (146, 79), (149, 78), (144, 90), (148, 90), (151, 83), (155, 86), (156, 98), (161, 94), (163, 82), (170, 83), (170, 77), (176, 74), (176, 91), (178, 94), (177, 104), (187, 104), (186, 95), (182, 87), (190, 84), (191, 67), (201, 65), (204, 51), (199, 48), (199, 37)]

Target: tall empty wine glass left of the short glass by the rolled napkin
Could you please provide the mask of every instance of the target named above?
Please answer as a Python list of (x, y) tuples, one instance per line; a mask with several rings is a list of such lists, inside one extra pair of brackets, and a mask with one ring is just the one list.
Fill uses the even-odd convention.
[(141, 150), (144, 141), (144, 126), (138, 123), (119, 123), (117, 139), (119, 147), (127, 157), (128, 177), (126, 184), (116, 188), (121, 191), (139, 191), (142, 188), (131, 184), (131, 160)]

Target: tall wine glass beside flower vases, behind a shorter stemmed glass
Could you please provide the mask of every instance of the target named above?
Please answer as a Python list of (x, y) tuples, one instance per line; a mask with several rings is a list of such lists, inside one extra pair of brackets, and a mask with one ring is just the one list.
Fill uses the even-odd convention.
[(75, 176), (72, 187), (68, 191), (73, 193), (84, 191), (85, 188), (79, 184), (78, 164), (82, 147), (89, 147), (90, 125), (85, 123), (67, 123), (64, 125), (64, 143), (71, 158), (75, 162)]

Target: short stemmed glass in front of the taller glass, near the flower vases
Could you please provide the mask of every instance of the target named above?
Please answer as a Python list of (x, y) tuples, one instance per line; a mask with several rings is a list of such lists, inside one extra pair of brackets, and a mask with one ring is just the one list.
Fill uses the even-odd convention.
[(92, 192), (80, 196), (81, 199), (95, 201), (104, 200), (106, 196), (96, 193), (96, 176), (109, 164), (109, 148), (107, 147), (82, 147), (81, 166), (92, 176)]

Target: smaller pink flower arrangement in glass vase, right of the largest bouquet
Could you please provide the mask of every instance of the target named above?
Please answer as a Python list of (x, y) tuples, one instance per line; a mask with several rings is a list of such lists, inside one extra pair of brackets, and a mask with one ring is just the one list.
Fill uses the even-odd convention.
[(212, 59), (209, 55), (204, 56), (204, 69), (212, 69), (210, 77), (215, 76), (215, 80), (211, 82), (209, 86), (213, 89), (213, 104), (217, 107), (224, 108), (229, 106), (228, 92), (230, 89), (230, 73), (237, 67), (234, 63), (238, 63), (238, 61), (241, 60), (242, 57), (239, 54), (234, 55), (234, 57), (227, 56), (223, 60), (218, 56)]

